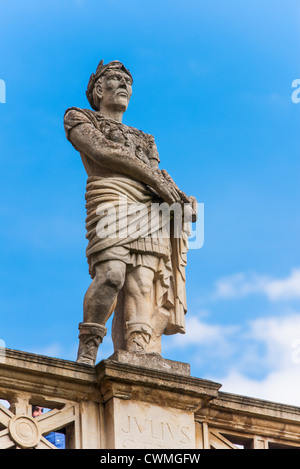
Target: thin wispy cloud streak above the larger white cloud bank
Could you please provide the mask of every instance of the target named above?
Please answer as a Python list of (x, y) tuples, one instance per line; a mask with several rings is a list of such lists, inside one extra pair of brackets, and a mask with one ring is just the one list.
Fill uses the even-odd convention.
[(282, 279), (245, 273), (223, 277), (216, 282), (214, 298), (240, 298), (251, 294), (266, 295), (271, 301), (300, 299), (300, 269), (293, 269)]

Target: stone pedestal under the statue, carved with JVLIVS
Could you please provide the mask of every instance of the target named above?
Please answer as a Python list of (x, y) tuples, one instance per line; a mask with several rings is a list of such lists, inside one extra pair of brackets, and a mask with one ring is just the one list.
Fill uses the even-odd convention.
[(220, 385), (195, 380), (188, 364), (156, 354), (117, 352), (98, 372), (107, 448), (196, 448), (194, 413)]

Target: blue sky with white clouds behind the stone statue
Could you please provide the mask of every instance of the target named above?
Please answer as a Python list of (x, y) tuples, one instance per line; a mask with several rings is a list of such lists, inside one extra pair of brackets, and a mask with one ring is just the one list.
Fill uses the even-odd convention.
[[(161, 168), (205, 210), (187, 333), (163, 356), (299, 406), (299, 2), (11, 0), (0, 13), (0, 339), (76, 359), (86, 175), (63, 114), (89, 107), (90, 74), (117, 59), (134, 77), (124, 123), (155, 136)], [(108, 335), (99, 360), (112, 351)]]

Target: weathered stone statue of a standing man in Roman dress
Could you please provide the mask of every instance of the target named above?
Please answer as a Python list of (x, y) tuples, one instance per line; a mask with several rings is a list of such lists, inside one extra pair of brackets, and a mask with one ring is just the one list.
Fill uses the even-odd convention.
[[(84, 297), (77, 362), (90, 365), (113, 312), (115, 351), (160, 354), (162, 334), (185, 332), (188, 226), (197, 203), (159, 169), (153, 136), (122, 123), (132, 83), (122, 63), (102, 60), (86, 91), (93, 110), (72, 107), (64, 116), (67, 139), (88, 176), (86, 255), (93, 280)], [(166, 235), (161, 204), (189, 208), (180, 236), (172, 232), (175, 211), (169, 212)], [(128, 232), (130, 223), (137, 229)]]

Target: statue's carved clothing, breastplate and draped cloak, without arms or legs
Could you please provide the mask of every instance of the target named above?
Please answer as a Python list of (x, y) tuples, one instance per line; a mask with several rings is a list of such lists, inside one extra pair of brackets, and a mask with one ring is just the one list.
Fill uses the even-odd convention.
[[(71, 130), (88, 124), (85, 131), (105, 144), (123, 145), (150, 166), (159, 156), (152, 135), (88, 109), (69, 108), (64, 117), (67, 139)], [(144, 183), (116, 170), (100, 166), (80, 151), (88, 174), (86, 184), (86, 256), (89, 272), (105, 260), (121, 260), (128, 267), (145, 266), (154, 271), (153, 313), (169, 313), (164, 334), (185, 332), (185, 267), (189, 224), (184, 223), (180, 236), (174, 236), (174, 219), (163, 217), (162, 202)], [(141, 208), (141, 210), (139, 210)]]

